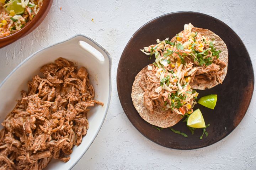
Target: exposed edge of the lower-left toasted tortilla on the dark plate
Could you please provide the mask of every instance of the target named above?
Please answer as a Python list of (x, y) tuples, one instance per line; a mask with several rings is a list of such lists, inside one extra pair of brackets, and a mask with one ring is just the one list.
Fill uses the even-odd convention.
[[(153, 65), (153, 64), (150, 64)], [(148, 66), (144, 67), (135, 77), (132, 86), (132, 101), (135, 109), (138, 111), (139, 115), (142, 119), (146, 120), (148, 123), (159, 126), (161, 128), (168, 128), (170, 126), (174, 126), (178, 121), (182, 119), (182, 115), (177, 113), (172, 113), (169, 111), (163, 111), (160, 107), (154, 109), (154, 112), (151, 113), (144, 106), (143, 96), (144, 91), (140, 87), (139, 82), (143, 81), (143, 77), (145, 76), (148, 70)]]

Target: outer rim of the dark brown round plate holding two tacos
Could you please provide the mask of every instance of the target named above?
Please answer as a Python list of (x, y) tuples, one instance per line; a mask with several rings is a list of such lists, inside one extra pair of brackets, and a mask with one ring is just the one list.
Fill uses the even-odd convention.
[[(236, 33), (234, 32), (234, 30), (233, 30), (232, 28), (230, 28), (227, 24), (225, 24), (224, 22), (220, 21), (219, 19), (217, 19), (217, 18), (215, 18), (215, 17), (212, 17), (212, 16), (207, 15), (207, 14), (204, 14), (204, 13), (200, 13), (200, 12), (194, 12), (194, 11), (177, 11), (177, 12), (170, 12), (170, 13), (166, 13), (166, 14), (164, 14), (164, 15), (161, 15), (161, 16), (159, 16), (159, 17), (156, 17), (156, 18), (150, 20), (149, 22), (145, 23), (142, 27), (140, 27), (140, 28), (132, 35), (132, 37), (130, 38), (130, 40), (127, 42), (126, 47), (130, 44), (130, 42), (132, 41), (132, 39), (140, 32), (140, 30), (143, 29), (144, 26), (146, 26), (147, 24), (149, 24), (149, 23), (151, 23), (151, 22), (153, 22), (153, 21), (155, 21), (155, 20), (158, 20), (158, 19), (161, 18), (161, 17), (167, 16), (167, 15), (171, 15), (171, 14), (176, 14), (176, 13), (179, 13), (179, 14), (181, 14), (181, 15), (182, 15), (183, 13), (184, 13), (184, 14), (185, 14), (185, 13), (194, 13), (194, 14), (197, 14), (197, 15), (206, 16), (206, 17), (208, 17), (208, 18), (210, 18), (210, 19), (216, 20), (216, 21), (220, 22), (221, 24), (225, 25), (227, 28), (229, 28), (229, 30), (230, 30), (231, 32), (233, 32), (233, 34), (236, 36), (236, 38), (238, 38), (238, 39), (240, 40), (240, 42), (242, 43), (242, 45), (245, 47), (245, 50), (246, 50), (246, 52), (247, 52), (247, 54), (248, 54), (248, 57), (249, 57), (249, 61), (251, 62), (251, 57), (250, 57), (250, 55), (249, 55), (249, 52), (248, 52), (248, 50), (247, 50), (247, 48), (246, 48), (244, 42), (241, 40), (241, 38), (238, 36), (238, 34), (236, 34)], [(134, 125), (134, 123), (133, 123), (133, 121), (132, 121), (133, 118), (130, 117), (130, 116), (127, 114), (128, 111), (127, 111), (126, 108), (124, 107), (124, 106), (125, 106), (125, 103), (123, 103), (123, 102), (121, 101), (121, 100), (122, 100), (122, 99), (121, 99), (122, 94), (121, 94), (121, 91), (120, 91), (121, 88), (119, 88), (119, 87), (120, 87), (120, 84), (119, 84), (120, 82), (119, 82), (119, 80), (118, 80), (119, 74), (121, 74), (121, 73), (120, 73), (120, 70), (119, 70), (119, 69), (120, 69), (119, 65), (120, 65), (121, 59), (124, 57), (123, 55), (124, 55), (124, 52), (125, 52), (126, 47), (124, 48), (124, 50), (123, 50), (123, 52), (122, 52), (122, 55), (121, 55), (120, 60), (119, 60), (119, 63), (118, 63), (118, 68), (117, 68), (117, 92), (118, 92), (118, 97), (119, 97), (121, 106), (122, 106), (122, 108), (123, 108), (123, 110), (124, 110), (124, 113), (125, 113), (126, 116), (128, 117), (129, 121), (133, 124), (133, 126), (134, 126), (143, 136), (145, 136), (145, 134), (143, 134), (143, 132), (140, 131), (140, 129), (138, 129), (137, 126)], [(251, 63), (252, 63), (252, 62), (251, 62)], [(253, 82), (253, 86), (252, 86), (252, 94), (253, 94), (253, 91), (254, 91), (254, 83), (255, 83), (255, 81), (254, 81), (254, 70), (253, 70), (253, 67), (252, 67), (252, 73), (251, 73), (251, 74), (252, 74), (252, 82)], [(131, 96), (129, 96), (129, 97), (131, 98)], [(158, 145), (164, 146), (164, 147), (166, 147), (166, 148), (172, 148), (172, 149), (178, 149), (178, 150), (192, 150), (192, 149), (204, 148), (204, 147), (213, 145), (214, 143), (217, 143), (217, 142), (221, 141), (223, 138), (225, 138), (225, 137), (228, 136), (231, 132), (233, 132), (234, 129), (236, 129), (236, 127), (240, 124), (240, 122), (241, 122), (242, 119), (244, 118), (244, 116), (245, 116), (245, 114), (246, 114), (246, 112), (247, 112), (247, 110), (248, 110), (248, 108), (249, 108), (249, 106), (250, 106), (251, 99), (252, 99), (252, 95), (250, 96), (249, 102), (246, 104), (246, 109), (244, 110), (243, 116), (242, 116), (241, 120), (239, 121), (239, 123), (238, 123), (233, 129), (231, 129), (225, 136), (223, 136), (223, 137), (220, 138), (219, 140), (216, 140), (216, 141), (214, 141), (214, 142), (212, 142), (212, 143), (210, 143), (210, 144), (208, 144), (208, 145), (201, 146), (201, 147), (194, 147), (194, 148), (193, 148), (193, 147), (191, 147), (191, 148), (168, 147), (168, 146), (162, 145), (161, 143), (157, 143), (156, 141), (154, 141), (153, 139), (149, 138), (148, 136), (145, 136), (145, 137), (148, 138), (150, 141), (152, 141), (152, 142), (158, 144)], [(139, 114), (139, 113), (138, 113), (138, 114)], [(186, 140), (186, 139), (185, 139), (185, 140)]]

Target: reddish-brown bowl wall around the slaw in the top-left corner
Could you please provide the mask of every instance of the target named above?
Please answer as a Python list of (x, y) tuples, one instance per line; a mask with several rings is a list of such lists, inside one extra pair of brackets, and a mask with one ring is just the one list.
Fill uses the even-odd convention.
[(39, 26), (39, 24), (41, 24), (41, 22), (47, 16), (50, 7), (52, 6), (52, 2), (53, 0), (44, 0), (41, 9), (31, 22), (26, 24), (25, 27), (16, 33), (0, 38), (0, 48), (17, 41), (23, 36), (26, 36), (27, 34), (31, 33), (37, 26)]

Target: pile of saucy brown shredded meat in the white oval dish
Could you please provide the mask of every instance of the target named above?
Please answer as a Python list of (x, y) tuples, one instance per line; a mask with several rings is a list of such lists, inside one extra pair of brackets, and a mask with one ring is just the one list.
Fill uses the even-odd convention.
[(9, 113), (0, 131), (0, 170), (40, 170), (52, 159), (67, 162), (73, 146), (89, 128), (87, 112), (94, 87), (86, 68), (58, 58), (28, 82), (28, 91)]

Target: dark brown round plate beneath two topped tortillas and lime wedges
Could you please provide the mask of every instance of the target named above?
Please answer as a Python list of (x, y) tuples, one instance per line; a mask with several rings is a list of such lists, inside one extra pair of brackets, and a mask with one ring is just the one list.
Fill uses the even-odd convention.
[[(132, 84), (138, 72), (155, 58), (148, 60), (148, 56), (139, 51), (145, 46), (156, 43), (156, 39), (174, 37), (183, 30), (184, 24), (192, 23), (194, 27), (213, 31), (224, 40), (228, 47), (228, 73), (223, 84), (208, 90), (197, 90), (198, 98), (217, 94), (218, 101), (214, 110), (196, 104), (194, 109), (200, 108), (209, 136), (202, 140), (202, 129), (196, 129), (194, 135), (180, 121), (173, 126), (188, 135), (187, 138), (175, 134), (170, 129), (158, 131), (144, 121), (133, 106), (131, 92)], [(222, 21), (198, 12), (169, 13), (142, 26), (126, 45), (117, 69), (117, 90), (120, 102), (127, 117), (135, 128), (151, 141), (159, 145), (174, 149), (196, 149), (216, 143), (230, 134), (244, 117), (249, 107), (254, 90), (254, 72), (250, 56), (239, 36)]]

